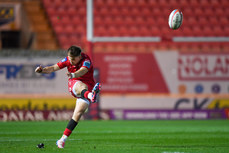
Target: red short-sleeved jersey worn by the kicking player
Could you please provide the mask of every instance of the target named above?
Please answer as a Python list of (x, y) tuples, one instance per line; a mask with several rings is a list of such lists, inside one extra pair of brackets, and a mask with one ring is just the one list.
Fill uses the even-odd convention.
[(95, 85), (95, 81), (93, 77), (94, 68), (93, 68), (91, 59), (89, 58), (87, 54), (81, 53), (81, 56), (82, 56), (82, 59), (78, 62), (77, 65), (72, 65), (68, 56), (65, 57), (62, 61), (58, 62), (57, 65), (59, 66), (60, 69), (67, 67), (68, 72), (70, 73), (76, 72), (81, 67), (87, 68), (88, 72), (84, 74), (82, 77), (68, 79), (68, 81), (71, 82), (74, 80), (80, 80), (83, 83), (85, 83), (88, 86), (88, 89), (91, 91), (93, 86)]

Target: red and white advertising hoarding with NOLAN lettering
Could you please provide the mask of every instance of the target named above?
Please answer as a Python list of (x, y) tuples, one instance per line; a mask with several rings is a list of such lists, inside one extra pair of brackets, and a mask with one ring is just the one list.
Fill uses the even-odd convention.
[(229, 53), (96, 53), (104, 93), (227, 94)]

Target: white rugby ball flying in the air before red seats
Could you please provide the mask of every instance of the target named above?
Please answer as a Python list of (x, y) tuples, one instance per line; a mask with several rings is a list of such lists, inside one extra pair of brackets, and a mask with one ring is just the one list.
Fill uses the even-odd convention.
[(183, 21), (183, 14), (178, 9), (173, 10), (169, 15), (169, 27), (173, 30), (178, 29)]

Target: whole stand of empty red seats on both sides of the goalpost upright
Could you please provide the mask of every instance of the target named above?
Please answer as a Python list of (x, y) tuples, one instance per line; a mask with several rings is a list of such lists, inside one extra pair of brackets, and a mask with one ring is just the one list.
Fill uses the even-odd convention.
[[(43, 0), (62, 49), (76, 44), (85, 47), (86, 1)], [(184, 20), (179, 30), (168, 27), (168, 15), (179, 8)], [(159, 43), (96, 43), (95, 51), (225, 51), (229, 36), (228, 0), (94, 0), (95, 36), (159, 36)], [(173, 37), (212, 37), (211, 41), (173, 42)], [(216, 38), (216, 39), (214, 39)], [(131, 47), (130, 47), (131, 46)], [(133, 47), (134, 46), (134, 47)]]

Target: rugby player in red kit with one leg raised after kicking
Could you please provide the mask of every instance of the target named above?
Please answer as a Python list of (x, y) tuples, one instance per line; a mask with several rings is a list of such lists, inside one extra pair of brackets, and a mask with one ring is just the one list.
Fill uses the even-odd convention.
[(96, 83), (93, 77), (93, 65), (89, 56), (82, 52), (78, 46), (71, 46), (67, 50), (68, 56), (52, 66), (38, 66), (37, 73), (51, 73), (67, 67), (68, 69), (68, 90), (76, 97), (76, 105), (62, 137), (57, 140), (58, 148), (64, 148), (65, 141), (77, 126), (80, 117), (88, 108), (90, 103), (95, 103), (101, 90), (101, 84)]

